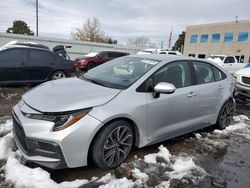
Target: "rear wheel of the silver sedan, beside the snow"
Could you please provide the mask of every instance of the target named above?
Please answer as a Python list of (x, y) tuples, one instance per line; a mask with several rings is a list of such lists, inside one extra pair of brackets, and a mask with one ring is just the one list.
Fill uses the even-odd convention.
[(219, 116), (217, 118), (217, 127), (219, 129), (225, 129), (233, 121), (234, 104), (232, 100), (228, 100), (221, 108)]

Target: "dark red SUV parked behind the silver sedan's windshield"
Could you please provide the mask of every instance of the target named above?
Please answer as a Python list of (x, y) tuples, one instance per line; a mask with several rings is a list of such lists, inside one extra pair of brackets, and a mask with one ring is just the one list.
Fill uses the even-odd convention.
[(110, 61), (112, 59), (129, 55), (127, 52), (118, 52), (118, 51), (100, 51), (92, 52), (85, 56), (82, 59), (77, 59), (77, 68), (80, 70), (90, 70), (102, 63)]

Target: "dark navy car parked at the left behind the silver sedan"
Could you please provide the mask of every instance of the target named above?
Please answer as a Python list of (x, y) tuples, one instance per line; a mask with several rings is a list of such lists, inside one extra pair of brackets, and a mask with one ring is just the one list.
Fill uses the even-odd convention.
[(72, 71), (73, 61), (34, 43), (0, 49), (0, 84), (40, 83), (65, 78)]

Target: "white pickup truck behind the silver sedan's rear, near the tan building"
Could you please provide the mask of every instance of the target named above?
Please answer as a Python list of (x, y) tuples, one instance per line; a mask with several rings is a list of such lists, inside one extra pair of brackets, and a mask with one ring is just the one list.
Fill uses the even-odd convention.
[(235, 72), (242, 69), (246, 65), (243, 63), (239, 63), (235, 56), (212, 55), (209, 56), (207, 60), (219, 64), (231, 74), (234, 74)]

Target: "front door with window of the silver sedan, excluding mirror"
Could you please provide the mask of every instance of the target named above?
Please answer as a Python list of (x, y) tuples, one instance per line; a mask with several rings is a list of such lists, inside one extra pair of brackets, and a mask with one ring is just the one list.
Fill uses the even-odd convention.
[(153, 86), (159, 82), (172, 83), (176, 91), (154, 98), (147, 94), (148, 139), (164, 140), (185, 132), (192, 126), (196, 113), (196, 93), (187, 61), (168, 63), (148, 80)]

